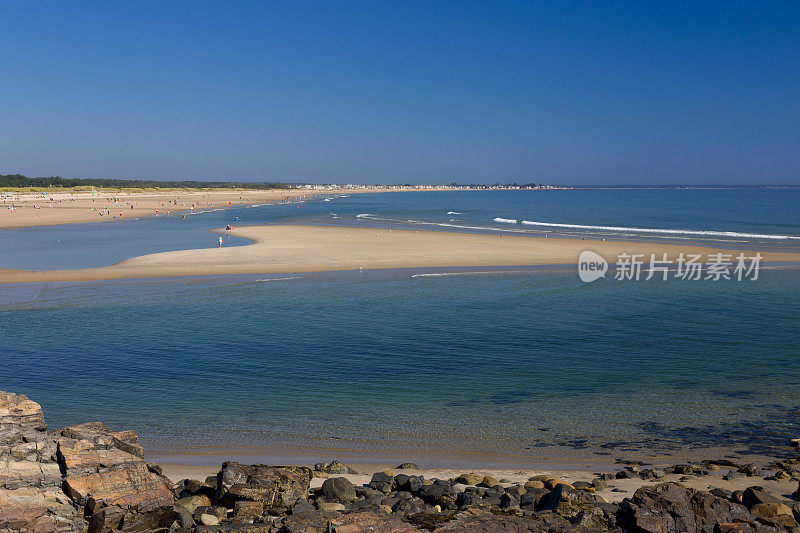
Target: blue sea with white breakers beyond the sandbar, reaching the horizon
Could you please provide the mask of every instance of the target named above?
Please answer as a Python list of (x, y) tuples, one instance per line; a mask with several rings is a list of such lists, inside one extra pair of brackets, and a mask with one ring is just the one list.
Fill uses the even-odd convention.
[[(287, 222), (623, 240), (702, 239), (734, 248), (746, 245), (800, 250), (800, 189), (441, 191), (344, 196), (329, 194), (323, 196), (324, 200), (311, 202), (214, 209), (188, 214), (185, 221), (176, 214), (0, 230), (0, 268), (107, 266), (147, 253), (216, 246), (216, 234), (209, 230), (227, 224)], [(244, 239), (226, 239), (226, 245), (247, 244)]]

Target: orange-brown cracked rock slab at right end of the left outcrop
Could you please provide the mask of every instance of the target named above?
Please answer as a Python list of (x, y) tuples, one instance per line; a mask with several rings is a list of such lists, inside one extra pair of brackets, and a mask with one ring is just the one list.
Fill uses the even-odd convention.
[(172, 507), (175, 503), (168, 481), (150, 472), (143, 462), (106, 472), (68, 476), (64, 479), (64, 492), (79, 505), (91, 497), (105, 505), (141, 512)]

